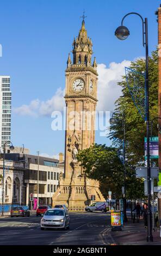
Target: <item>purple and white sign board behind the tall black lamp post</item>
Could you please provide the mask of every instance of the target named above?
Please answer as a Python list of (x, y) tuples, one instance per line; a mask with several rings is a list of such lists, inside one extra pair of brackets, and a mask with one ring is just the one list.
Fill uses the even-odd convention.
[[(150, 147), (150, 159), (158, 159), (158, 137), (150, 137), (149, 139), (149, 147)], [(144, 139), (145, 145), (145, 159), (147, 159), (147, 138)]]

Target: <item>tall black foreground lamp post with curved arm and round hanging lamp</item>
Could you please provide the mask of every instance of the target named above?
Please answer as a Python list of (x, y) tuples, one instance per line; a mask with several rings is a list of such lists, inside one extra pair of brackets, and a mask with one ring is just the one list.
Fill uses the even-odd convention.
[(151, 220), (151, 170), (150, 170), (150, 131), (149, 131), (149, 102), (148, 102), (148, 33), (147, 33), (147, 18), (143, 20), (143, 17), (138, 13), (128, 13), (121, 21), (121, 26), (116, 28), (115, 35), (120, 40), (125, 40), (129, 35), (129, 30), (127, 27), (123, 26), (123, 20), (128, 15), (135, 14), (138, 15), (142, 21), (143, 26), (143, 46), (145, 47), (146, 53), (146, 137), (147, 137), (147, 193), (148, 193), (148, 213), (147, 213), (147, 241), (153, 241), (152, 236), (152, 220)]

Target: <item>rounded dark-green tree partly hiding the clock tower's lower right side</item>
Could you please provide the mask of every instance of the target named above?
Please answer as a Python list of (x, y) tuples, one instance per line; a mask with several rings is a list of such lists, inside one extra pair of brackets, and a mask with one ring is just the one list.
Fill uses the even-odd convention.
[[(105, 198), (108, 197), (109, 190), (112, 191), (115, 198), (122, 196), (124, 169), (117, 148), (94, 144), (88, 149), (79, 151), (77, 159), (81, 162), (88, 178), (100, 181), (100, 190)], [(128, 166), (126, 182), (127, 190), (129, 189), (129, 198), (131, 199), (138, 198), (138, 194), (141, 193), (140, 189), (143, 190), (143, 186), (141, 186), (143, 181), (135, 178), (134, 173), (134, 168)], [(131, 184), (135, 184), (137, 191), (132, 191)]]

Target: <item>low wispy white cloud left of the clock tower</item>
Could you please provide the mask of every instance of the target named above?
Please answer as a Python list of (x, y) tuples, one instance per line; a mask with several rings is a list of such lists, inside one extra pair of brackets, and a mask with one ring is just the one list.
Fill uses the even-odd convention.
[(30, 115), (32, 117), (38, 117), (39, 115), (51, 116), (53, 111), (63, 111), (65, 106), (64, 92), (65, 90), (58, 88), (52, 98), (47, 101), (32, 100), (29, 105), (22, 105), (13, 110), (19, 115)]

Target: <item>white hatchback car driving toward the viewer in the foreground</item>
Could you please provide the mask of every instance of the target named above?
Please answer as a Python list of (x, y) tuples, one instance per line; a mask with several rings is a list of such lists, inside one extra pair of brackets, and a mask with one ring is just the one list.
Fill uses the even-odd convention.
[(41, 230), (44, 230), (45, 228), (69, 229), (69, 213), (65, 209), (48, 209), (41, 219)]

